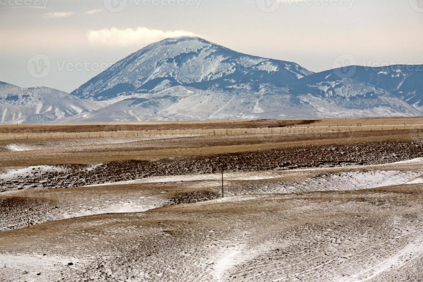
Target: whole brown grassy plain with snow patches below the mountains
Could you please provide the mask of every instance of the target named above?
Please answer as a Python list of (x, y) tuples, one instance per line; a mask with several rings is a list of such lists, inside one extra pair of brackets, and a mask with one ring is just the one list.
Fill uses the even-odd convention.
[(423, 281), (422, 127), (0, 125), (0, 281)]

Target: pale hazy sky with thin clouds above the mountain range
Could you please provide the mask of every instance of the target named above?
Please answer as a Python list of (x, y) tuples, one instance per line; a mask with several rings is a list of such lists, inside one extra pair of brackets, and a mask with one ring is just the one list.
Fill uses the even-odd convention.
[(422, 64), (422, 30), (423, 0), (0, 0), (0, 81), (71, 92), (174, 36), (315, 72)]

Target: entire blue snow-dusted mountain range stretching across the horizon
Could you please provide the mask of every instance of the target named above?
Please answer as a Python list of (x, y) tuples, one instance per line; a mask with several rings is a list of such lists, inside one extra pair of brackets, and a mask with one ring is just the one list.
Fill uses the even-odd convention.
[(0, 85), (2, 123), (423, 115), (423, 66), (319, 73), (198, 37), (129, 55), (71, 94)]

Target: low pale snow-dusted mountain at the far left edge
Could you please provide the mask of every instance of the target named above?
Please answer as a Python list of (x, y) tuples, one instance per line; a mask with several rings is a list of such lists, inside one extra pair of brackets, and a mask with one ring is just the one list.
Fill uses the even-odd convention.
[(98, 110), (99, 102), (85, 101), (47, 87), (22, 88), (0, 82), (1, 123), (45, 123)]

